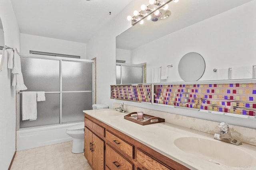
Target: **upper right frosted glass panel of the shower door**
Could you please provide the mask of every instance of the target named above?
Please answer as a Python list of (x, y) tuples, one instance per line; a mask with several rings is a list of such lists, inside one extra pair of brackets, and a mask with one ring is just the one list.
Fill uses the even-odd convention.
[(92, 63), (62, 61), (63, 91), (92, 91)]

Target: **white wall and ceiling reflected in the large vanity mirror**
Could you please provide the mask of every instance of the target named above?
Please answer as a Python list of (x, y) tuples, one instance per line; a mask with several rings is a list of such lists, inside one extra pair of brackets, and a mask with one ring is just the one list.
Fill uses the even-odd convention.
[[(171, 1), (168, 6), (168, 18), (145, 20), (116, 37), (117, 60), (146, 63), (147, 83), (155, 82), (153, 74), (160, 67), (168, 70), (168, 76), (160, 82), (184, 81), (178, 64), (190, 52), (200, 54), (206, 64), (199, 81), (223, 80), (223, 76), (218, 76), (222, 70), (240, 67), (252, 68), (247, 78), (254, 78), (256, 0), (180, 0)], [(190, 67), (198, 64), (193, 62)], [(184, 67), (184, 73), (190, 71), (187, 68)]]

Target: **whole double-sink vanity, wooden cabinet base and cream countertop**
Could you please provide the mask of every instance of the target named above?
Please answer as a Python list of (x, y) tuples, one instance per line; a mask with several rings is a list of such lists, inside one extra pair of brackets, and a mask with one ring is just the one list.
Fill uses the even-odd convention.
[[(84, 113), (84, 156), (94, 170), (226, 170), (236, 168), (232, 161), (222, 164), (222, 162), (214, 162), (214, 160), (188, 153), (189, 150), (181, 150), (182, 147), (186, 148), (190, 141), (196, 145), (205, 144), (198, 143), (198, 139), (202, 142), (210, 142), (210, 146), (213, 147), (224, 146), (224, 149), (227, 148), (229, 152), (230, 149), (234, 149), (234, 152), (242, 149), (241, 155), (246, 157), (247, 162), (243, 162), (241, 158), (235, 158), (237, 167), (244, 165), (242, 163), (254, 165), (256, 162), (255, 147), (252, 145), (244, 144), (237, 149), (236, 146), (230, 146), (231, 144), (214, 140), (210, 134), (166, 122), (139, 125), (124, 119), (124, 115), (128, 113), (113, 109), (86, 110)], [(207, 145), (204, 147), (204, 150), (216, 150)]]

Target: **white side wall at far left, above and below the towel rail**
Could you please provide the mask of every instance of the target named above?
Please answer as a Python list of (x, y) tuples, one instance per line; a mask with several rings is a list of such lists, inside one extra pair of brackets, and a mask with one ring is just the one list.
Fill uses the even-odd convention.
[[(4, 28), (4, 41), (10, 47), (20, 49), (20, 30), (11, 0), (0, 1), (0, 18)], [(0, 73), (0, 169), (7, 170), (15, 152), (16, 113), (15, 91), (11, 86), (11, 72), (4, 60)]]

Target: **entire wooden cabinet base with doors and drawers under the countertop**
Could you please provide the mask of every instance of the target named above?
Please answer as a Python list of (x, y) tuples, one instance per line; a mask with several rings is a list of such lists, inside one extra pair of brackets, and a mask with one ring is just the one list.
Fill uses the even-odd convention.
[(94, 170), (189, 170), (86, 113), (84, 122), (84, 156)]

